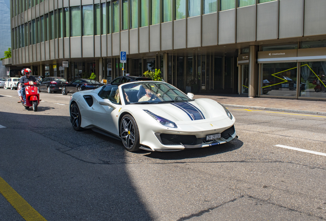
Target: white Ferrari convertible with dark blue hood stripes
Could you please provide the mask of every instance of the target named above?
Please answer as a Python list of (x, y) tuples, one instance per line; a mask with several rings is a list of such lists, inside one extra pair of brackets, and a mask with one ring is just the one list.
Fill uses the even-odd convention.
[(74, 93), (70, 121), (117, 138), (129, 151), (177, 151), (227, 143), (235, 118), (218, 102), (184, 94), (169, 83), (136, 81)]

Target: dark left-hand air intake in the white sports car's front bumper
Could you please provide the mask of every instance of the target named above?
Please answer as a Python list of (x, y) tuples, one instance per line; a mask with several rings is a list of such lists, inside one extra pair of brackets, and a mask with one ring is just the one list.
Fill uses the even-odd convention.
[(197, 142), (195, 135), (160, 134), (161, 143), (164, 145), (194, 145)]

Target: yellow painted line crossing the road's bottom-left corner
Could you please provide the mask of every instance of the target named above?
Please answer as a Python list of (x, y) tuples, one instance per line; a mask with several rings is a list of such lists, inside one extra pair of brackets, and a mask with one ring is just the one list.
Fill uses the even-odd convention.
[(46, 219), (40, 215), (31, 205), (29, 205), (24, 198), (19, 195), (4, 179), (0, 176), (0, 193), (6, 200), (17, 210), (27, 221), (44, 220)]

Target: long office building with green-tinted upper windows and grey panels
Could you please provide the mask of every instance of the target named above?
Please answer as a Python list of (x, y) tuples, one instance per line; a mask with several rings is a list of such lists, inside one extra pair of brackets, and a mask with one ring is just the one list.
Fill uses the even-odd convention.
[(324, 9), (325, 0), (11, 0), (12, 64), (67, 80), (160, 69), (184, 92), (322, 100)]

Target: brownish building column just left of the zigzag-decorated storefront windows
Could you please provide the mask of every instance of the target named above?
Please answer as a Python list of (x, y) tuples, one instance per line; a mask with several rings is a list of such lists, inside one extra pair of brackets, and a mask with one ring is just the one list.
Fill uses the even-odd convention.
[(256, 54), (257, 54), (257, 47), (250, 46), (249, 48), (249, 83), (248, 83), (248, 97), (254, 98), (256, 96), (256, 79), (257, 79), (257, 65), (256, 65)]

